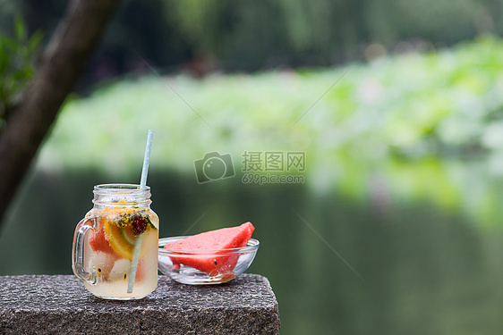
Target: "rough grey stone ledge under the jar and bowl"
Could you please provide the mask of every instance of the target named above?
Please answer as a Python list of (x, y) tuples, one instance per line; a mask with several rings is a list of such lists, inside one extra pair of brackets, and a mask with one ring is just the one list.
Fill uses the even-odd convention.
[(160, 275), (148, 297), (94, 297), (73, 275), (0, 277), (3, 334), (278, 334), (267, 278), (243, 273), (225, 284), (190, 286)]

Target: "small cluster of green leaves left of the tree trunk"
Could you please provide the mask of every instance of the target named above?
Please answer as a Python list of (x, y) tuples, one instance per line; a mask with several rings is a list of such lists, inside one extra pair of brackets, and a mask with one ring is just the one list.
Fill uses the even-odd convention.
[(39, 32), (28, 38), (21, 16), (14, 19), (14, 35), (0, 35), (0, 125), (35, 73), (34, 57), (42, 38)]

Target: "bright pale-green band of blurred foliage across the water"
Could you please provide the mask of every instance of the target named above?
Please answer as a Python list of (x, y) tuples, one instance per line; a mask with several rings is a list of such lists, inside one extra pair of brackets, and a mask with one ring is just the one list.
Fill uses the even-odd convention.
[[(64, 154), (58, 161), (71, 165), (89, 164), (74, 145), (97, 158), (105, 155), (98, 153), (100, 144), (113, 144), (126, 156), (128, 147), (141, 147), (144, 134), (137, 130), (156, 126), (164, 140), (186, 144), (166, 142), (166, 153), (192, 157), (208, 146), (241, 150), (251, 144), (367, 161), (484, 154), (503, 150), (502, 53), (503, 41), (488, 37), (444, 52), (326, 71), (120, 80), (70, 101), (51, 143)], [(74, 130), (72, 124), (89, 127)], [(92, 136), (79, 143), (56, 141), (86, 133)], [(160, 159), (175, 166), (168, 155)]]

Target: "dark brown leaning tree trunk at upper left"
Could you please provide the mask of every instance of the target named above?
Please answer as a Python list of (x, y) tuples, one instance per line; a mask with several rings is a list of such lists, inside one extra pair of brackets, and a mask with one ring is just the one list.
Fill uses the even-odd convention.
[[(38, 147), (120, 0), (72, 0), (21, 104), (0, 133), (0, 228)], [(79, 125), (76, 124), (75, 127)]]

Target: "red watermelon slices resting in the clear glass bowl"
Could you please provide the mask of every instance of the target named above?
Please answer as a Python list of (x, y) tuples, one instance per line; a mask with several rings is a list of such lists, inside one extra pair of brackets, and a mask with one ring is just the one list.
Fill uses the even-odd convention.
[[(234, 247), (246, 247), (248, 240), (252, 238), (253, 227), (251, 222), (243, 223), (238, 227), (222, 228), (203, 232), (191, 237), (181, 239), (175, 243), (164, 246), (168, 250), (192, 250), (200, 251), (203, 255), (169, 255), (175, 268), (181, 264), (191, 266), (200, 272), (206, 272), (210, 276), (233, 272), (239, 253), (226, 253), (222, 249)], [(205, 253), (205, 250), (217, 250), (213, 254)]]

